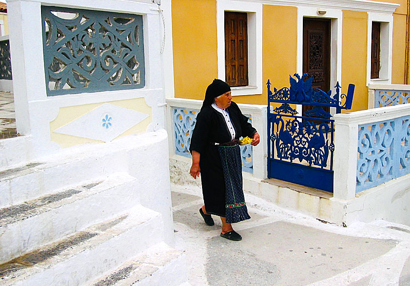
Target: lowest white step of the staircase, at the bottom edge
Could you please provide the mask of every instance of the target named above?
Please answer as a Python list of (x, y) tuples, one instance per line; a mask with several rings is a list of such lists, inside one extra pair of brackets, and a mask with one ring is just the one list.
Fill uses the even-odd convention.
[(181, 286), (187, 284), (181, 250), (160, 243), (89, 286)]

